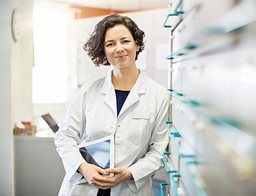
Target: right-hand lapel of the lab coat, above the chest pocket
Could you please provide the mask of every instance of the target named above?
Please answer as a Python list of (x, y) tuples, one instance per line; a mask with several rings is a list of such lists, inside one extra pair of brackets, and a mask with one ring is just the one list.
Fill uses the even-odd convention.
[(144, 75), (144, 73), (141, 72), (133, 88), (129, 92), (129, 95), (125, 100), (123, 107), (121, 108), (119, 117), (122, 115), (123, 112), (125, 112), (125, 110), (133, 106), (133, 104), (135, 104), (137, 101), (139, 101), (139, 94), (144, 94), (145, 92), (146, 92), (146, 75)]

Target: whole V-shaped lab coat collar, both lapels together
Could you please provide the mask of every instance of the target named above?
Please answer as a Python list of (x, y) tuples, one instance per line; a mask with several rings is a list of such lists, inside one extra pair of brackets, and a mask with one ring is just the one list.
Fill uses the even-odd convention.
[[(139, 100), (139, 94), (146, 93), (146, 75), (141, 70), (139, 71), (139, 77), (137, 78), (137, 81), (131, 89), (127, 100), (125, 100), (125, 103), (123, 104), (123, 107), (121, 108), (121, 111), (119, 113), (119, 117), (125, 110), (127, 110), (127, 108), (129, 108)], [(112, 108), (113, 112), (115, 112), (115, 115), (117, 116), (117, 102), (115, 88), (112, 84), (112, 73), (113, 70), (110, 71), (110, 73), (108, 73), (108, 75), (106, 76), (101, 92), (105, 96), (104, 102), (106, 102), (106, 104), (108, 104), (108, 106)]]

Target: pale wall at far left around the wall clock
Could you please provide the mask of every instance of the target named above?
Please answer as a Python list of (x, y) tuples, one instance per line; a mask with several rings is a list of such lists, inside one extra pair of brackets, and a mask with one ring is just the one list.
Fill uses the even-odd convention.
[[(22, 5), (22, 38), (11, 36), (11, 13)], [(0, 195), (14, 194), (13, 125), (32, 119), (32, 0), (0, 1)], [(3, 179), (3, 180), (2, 180)]]

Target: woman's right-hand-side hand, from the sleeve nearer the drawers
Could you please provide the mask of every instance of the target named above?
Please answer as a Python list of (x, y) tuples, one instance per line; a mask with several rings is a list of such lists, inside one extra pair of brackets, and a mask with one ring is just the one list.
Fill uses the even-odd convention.
[(107, 174), (113, 173), (112, 177), (104, 177), (104, 176), (93, 176), (92, 177), (92, 185), (98, 187), (99, 189), (109, 189), (111, 187), (117, 186), (119, 183), (123, 181), (127, 181), (133, 178), (131, 172), (124, 168), (109, 168), (105, 170)]

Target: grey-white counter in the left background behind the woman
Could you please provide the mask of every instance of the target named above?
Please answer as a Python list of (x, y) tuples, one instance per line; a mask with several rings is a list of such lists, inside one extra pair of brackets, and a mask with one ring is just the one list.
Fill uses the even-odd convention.
[(58, 195), (65, 170), (54, 144), (54, 135), (14, 135), (15, 195)]

